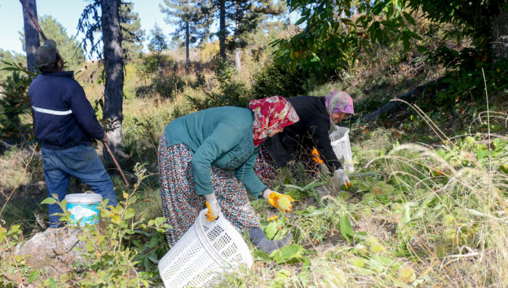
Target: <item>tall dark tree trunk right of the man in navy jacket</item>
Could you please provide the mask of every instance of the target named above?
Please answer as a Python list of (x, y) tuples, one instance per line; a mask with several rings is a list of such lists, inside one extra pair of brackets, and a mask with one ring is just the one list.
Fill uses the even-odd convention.
[[(102, 0), (102, 38), (104, 40), (104, 119), (115, 121), (115, 130), (108, 132), (109, 146), (116, 152), (122, 143), (122, 104), (124, 100), (124, 59), (119, 16), (120, 0)], [(107, 155), (105, 152), (104, 155)]]

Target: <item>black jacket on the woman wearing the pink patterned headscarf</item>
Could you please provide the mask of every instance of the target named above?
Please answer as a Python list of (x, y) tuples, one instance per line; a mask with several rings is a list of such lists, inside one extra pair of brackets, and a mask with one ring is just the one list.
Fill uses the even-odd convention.
[(342, 168), (328, 137), (330, 116), (325, 97), (300, 96), (288, 100), (295, 107), (300, 121), (264, 141), (274, 162), (283, 167), (299, 153), (310, 154), (312, 147), (316, 147), (328, 168), (332, 171)]

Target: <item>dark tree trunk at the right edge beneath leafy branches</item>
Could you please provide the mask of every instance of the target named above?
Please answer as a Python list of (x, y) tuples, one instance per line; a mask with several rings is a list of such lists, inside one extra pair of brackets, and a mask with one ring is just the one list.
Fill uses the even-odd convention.
[(489, 50), (494, 61), (508, 57), (508, 11), (502, 7), (499, 10), (490, 19)]

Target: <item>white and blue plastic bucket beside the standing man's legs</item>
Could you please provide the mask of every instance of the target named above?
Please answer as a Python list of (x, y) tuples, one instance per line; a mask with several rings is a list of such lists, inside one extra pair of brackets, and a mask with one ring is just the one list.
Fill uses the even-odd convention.
[(69, 225), (76, 226), (80, 220), (80, 226), (99, 223), (98, 205), (102, 200), (101, 195), (95, 193), (67, 194), (65, 200), (67, 200), (67, 211), (71, 212)]

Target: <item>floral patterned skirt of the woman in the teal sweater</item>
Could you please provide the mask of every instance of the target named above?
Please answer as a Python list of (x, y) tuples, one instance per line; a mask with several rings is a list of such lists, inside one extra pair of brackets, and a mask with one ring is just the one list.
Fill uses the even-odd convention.
[[(192, 173), (192, 152), (185, 144), (168, 146), (162, 134), (157, 152), (159, 181), (161, 184), (162, 210), (172, 229), (166, 230), (172, 247), (194, 224), (205, 208), (205, 196), (197, 195)], [(233, 171), (211, 167), (211, 183), (222, 214), (239, 231), (259, 227), (244, 185), (235, 178)]]

